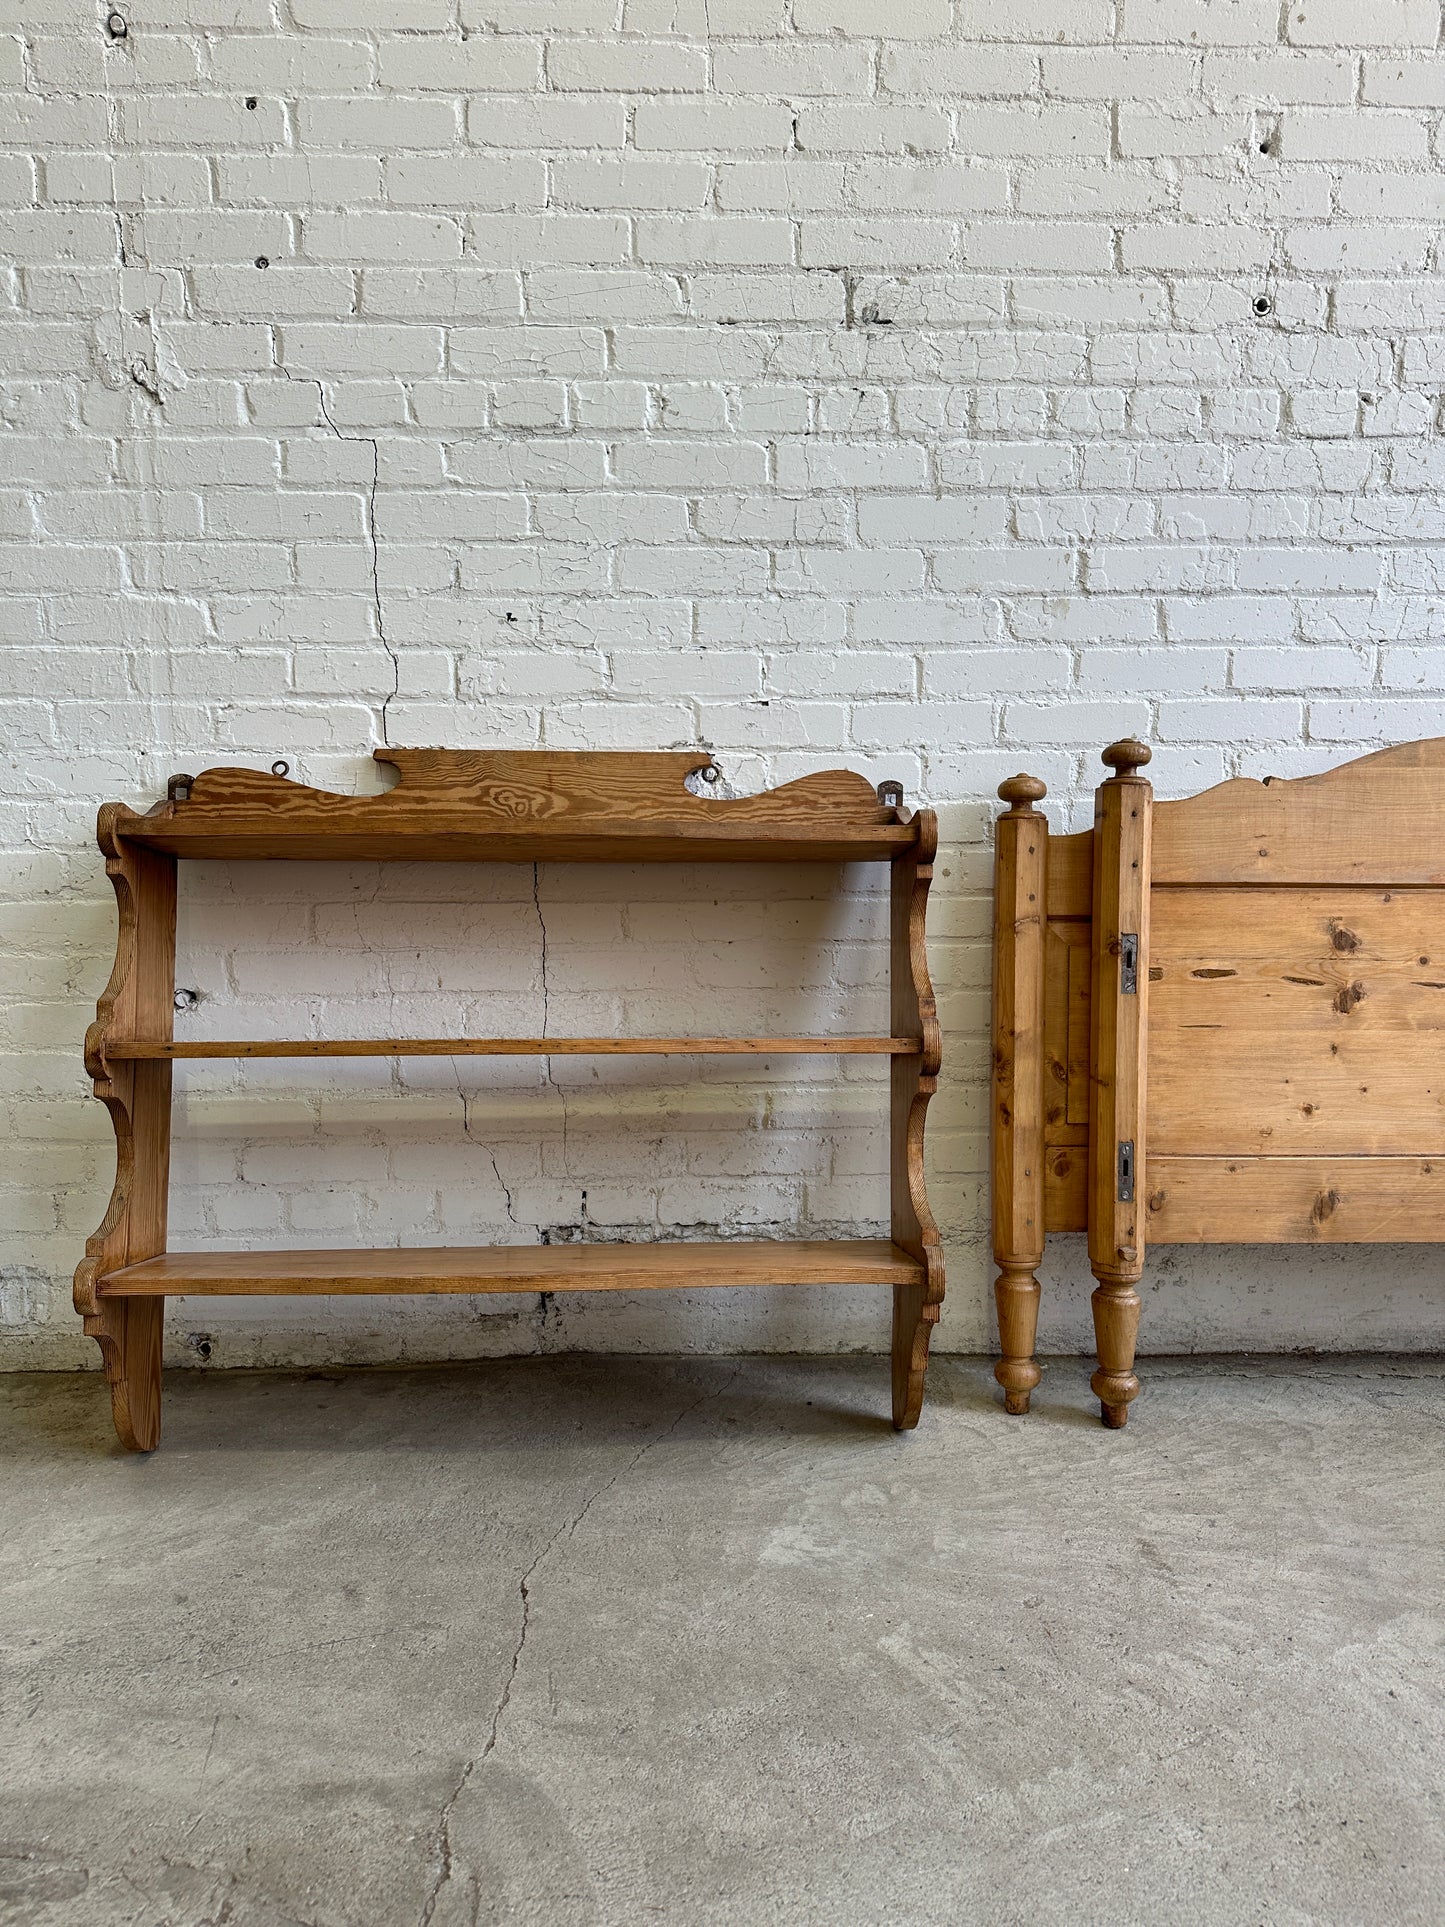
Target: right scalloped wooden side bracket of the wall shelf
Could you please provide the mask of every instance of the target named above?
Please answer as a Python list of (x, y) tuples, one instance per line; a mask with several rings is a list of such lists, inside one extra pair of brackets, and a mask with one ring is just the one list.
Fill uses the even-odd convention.
[(919, 1422), (929, 1339), (944, 1303), (942, 1237), (923, 1177), (923, 1129), (942, 1066), (942, 1031), (925, 944), (938, 819), (921, 809), (913, 827), (917, 844), (892, 867), (890, 944), (894, 1031), (923, 1039), (917, 1056), (892, 1060), (892, 1237), (923, 1264), (921, 1283), (894, 1285), (894, 1426), (900, 1432)]

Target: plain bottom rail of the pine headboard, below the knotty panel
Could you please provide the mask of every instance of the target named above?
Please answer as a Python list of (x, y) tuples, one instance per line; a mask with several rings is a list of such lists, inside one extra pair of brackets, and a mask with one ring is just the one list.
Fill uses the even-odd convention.
[(1152, 1245), (1433, 1245), (1445, 1158), (1150, 1158)]

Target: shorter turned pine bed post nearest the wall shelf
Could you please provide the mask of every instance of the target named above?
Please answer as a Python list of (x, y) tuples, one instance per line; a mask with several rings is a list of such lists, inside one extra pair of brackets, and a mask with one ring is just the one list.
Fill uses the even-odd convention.
[(1048, 819), (1038, 777), (998, 786), (1010, 805), (994, 840), (994, 1303), (1004, 1411), (1027, 1412), (1038, 1384), (1038, 1260), (1044, 1254), (1044, 888)]

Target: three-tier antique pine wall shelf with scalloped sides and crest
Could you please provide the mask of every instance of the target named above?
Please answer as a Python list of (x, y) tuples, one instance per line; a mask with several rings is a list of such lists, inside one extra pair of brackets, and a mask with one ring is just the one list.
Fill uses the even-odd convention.
[[(850, 771), (761, 796), (709, 800), (686, 779), (707, 752), (551, 753), (378, 750), (401, 782), (333, 796), (249, 769), (175, 777), (164, 804), (100, 809), (116, 886), (116, 967), (85, 1041), (116, 1127), (116, 1189), (75, 1272), (75, 1308), (100, 1343), (116, 1432), (160, 1439), (166, 1297), (198, 1293), (642, 1291), (667, 1285), (892, 1285), (892, 1416), (915, 1426), (929, 1335), (944, 1297), (942, 1247), (923, 1183), (923, 1125), (940, 1062), (925, 954), (938, 825), (884, 804)], [(884, 786), (886, 788), (886, 786)], [(890, 865), (888, 1037), (374, 1037), (177, 1044), (177, 858), (408, 861), (647, 861)], [(478, 1245), (401, 1251), (187, 1253), (166, 1249), (171, 1064), (191, 1058), (356, 1056), (886, 1056), (890, 1235), (655, 1245)]]

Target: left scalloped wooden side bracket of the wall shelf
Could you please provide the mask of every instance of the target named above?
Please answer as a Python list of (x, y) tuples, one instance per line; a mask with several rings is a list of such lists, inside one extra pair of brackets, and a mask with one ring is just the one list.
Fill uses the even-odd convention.
[(129, 844), (116, 831), (119, 804), (100, 811), (96, 836), (116, 890), (119, 927), (110, 983), (85, 1033), (85, 1068), (116, 1131), (116, 1183), (75, 1270), (75, 1310), (100, 1345), (121, 1445), (160, 1441), (160, 1333), (164, 1299), (106, 1299), (100, 1280), (166, 1251), (171, 1066), (116, 1060), (108, 1046), (170, 1039), (175, 1002), (175, 858)]

